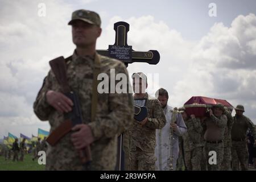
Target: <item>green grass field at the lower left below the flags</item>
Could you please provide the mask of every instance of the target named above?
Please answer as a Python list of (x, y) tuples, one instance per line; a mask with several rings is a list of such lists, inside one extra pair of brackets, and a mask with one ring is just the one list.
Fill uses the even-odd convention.
[(38, 159), (32, 161), (32, 155), (24, 155), (23, 162), (13, 162), (12, 159), (5, 160), (4, 156), (0, 156), (0, 171), (43, 171), (45, 165), (39, 165)]

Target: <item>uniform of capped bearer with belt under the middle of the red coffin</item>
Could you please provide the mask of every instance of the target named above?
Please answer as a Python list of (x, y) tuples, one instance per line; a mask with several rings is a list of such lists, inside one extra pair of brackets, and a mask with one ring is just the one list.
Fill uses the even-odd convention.
[[(226, 115), (222, 114), (220, 117), (215, 117), (211, 115), (208, 117), (203, 123), (203, 127), (206, 129), (204, 138), (206, 140), (205, 143), (205, 157), (207, 160), (207, 169), (208, 171), (219, 171), (221, 169), (221, 163), (223, 160), (223, 152), (224, 152), (224, 131), (227, 123)], [(209, 134), (211, 133), (211, 134)], [(218, 141), (209, 141), (207, 138), (212, 134), (218, 135), (220, 138)], [(212, 155), (209, 155), (210, 151), (215, 151), (217, 156), (216, 164), (209, 164), (209, 158)]]

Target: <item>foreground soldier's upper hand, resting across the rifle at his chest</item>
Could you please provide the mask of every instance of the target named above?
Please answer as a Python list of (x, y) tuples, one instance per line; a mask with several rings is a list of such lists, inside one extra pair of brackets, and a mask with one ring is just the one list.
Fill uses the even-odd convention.
[(49, 90), (46, 93), (46, 100), (49, 105), (60, 111), (60, 113), (68, 113), (72, 110), (73, 102), (63, 93)]

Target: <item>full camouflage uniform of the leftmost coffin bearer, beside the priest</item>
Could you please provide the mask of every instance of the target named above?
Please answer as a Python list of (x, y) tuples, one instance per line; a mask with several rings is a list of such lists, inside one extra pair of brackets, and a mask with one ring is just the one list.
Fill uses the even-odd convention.
[(187, 133), (182, 136), (185, 166), (188, 171), (200, 171), (201, 155), (203, 155), (201, 148), (201, 132), (203, 127), (201, 127), (200, 119), (197, 118), (188, 118), (184, 122), (187, 126)]

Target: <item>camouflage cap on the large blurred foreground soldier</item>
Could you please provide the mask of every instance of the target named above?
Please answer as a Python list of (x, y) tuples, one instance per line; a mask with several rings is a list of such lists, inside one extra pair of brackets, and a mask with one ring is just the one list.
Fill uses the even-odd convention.
[(72, 13), (71, 20), (68, 22), (69, 25), (72, 25), (72, 23), (75, 20), (82, 20), (84, 22), (90, 23), (90, 24), (96, 24), (97, 26), (101, 26), (101, 18), (100, 15), (98, 15), (94, 11), (89, 10), (76, 10)]

